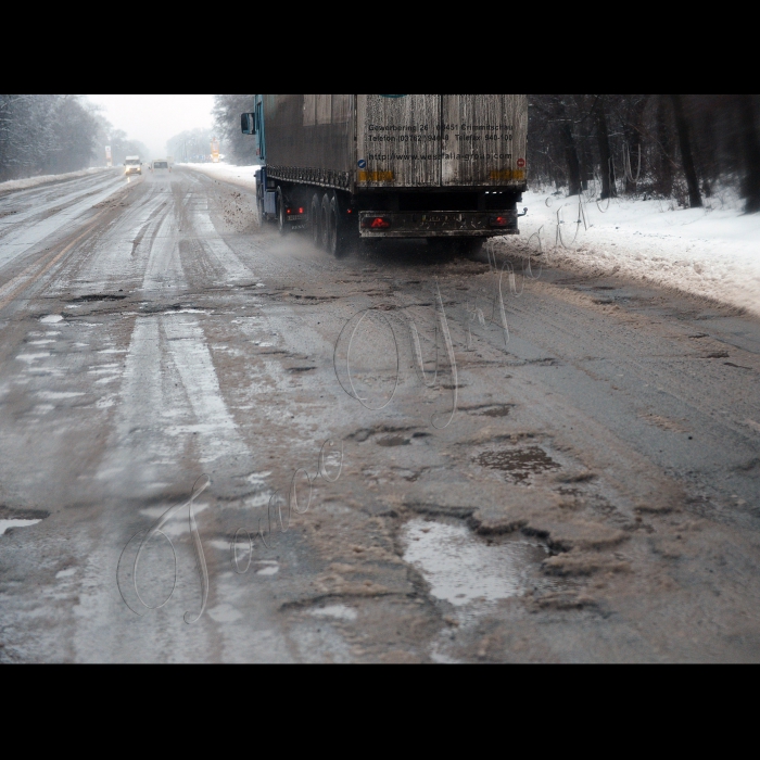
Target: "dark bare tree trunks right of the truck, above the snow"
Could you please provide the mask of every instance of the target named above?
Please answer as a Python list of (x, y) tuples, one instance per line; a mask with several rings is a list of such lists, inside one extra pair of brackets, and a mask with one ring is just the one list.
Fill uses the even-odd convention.
[(534, 180), (578, 192), (674, 194), (701, 205), (717, 185), (760, 211), (755, 94), (533, 94)]

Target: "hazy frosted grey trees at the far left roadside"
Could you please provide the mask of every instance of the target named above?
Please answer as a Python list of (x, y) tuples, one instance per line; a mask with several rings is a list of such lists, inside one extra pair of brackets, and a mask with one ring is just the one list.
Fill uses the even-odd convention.
[(0, 180), (90, 165), (97, 114), (77, 94), (0, 94)]

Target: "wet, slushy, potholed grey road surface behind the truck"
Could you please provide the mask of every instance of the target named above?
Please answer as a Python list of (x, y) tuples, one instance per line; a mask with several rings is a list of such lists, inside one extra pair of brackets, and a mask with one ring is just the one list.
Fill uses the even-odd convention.
[(760, 661), (760, 324), (527, 242), (0, 197), (0, 662)]

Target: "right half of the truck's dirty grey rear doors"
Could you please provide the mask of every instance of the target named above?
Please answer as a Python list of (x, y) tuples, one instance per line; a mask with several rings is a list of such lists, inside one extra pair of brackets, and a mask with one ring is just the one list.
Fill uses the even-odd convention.
[(528, 107), (521, 94), (444, 94), (442, 185), (489, 187), (525, 179)]

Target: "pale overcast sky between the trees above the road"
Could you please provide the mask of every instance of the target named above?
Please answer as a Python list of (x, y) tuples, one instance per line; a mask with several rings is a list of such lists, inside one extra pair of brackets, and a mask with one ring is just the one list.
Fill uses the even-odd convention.
[(102, 105), (104, 116), (134, 140), (140, 140), (153, 159), (166, 155), (166, 141), (186, 129), (211, 127), (214, 96), (87, 96)]

